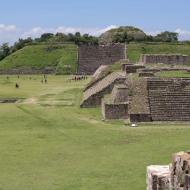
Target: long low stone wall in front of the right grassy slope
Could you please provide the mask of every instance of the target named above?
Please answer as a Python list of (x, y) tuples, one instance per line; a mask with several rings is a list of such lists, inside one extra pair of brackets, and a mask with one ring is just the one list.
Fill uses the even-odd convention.
[(143, 54), (139, 60), (140, 63), (164, 63), (164, 64), (187, 64), (190, 58), (181, 54)]

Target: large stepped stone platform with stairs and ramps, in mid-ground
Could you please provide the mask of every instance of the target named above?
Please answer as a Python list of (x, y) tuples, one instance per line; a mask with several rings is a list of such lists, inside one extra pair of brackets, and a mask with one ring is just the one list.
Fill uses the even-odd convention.
[(101, 66), (85, 88), (82, 108), (100, 106), (104, 119), (190, 121), (190, 78), (154, 76), (162, 70), (188, 69), (122, 64), (121, 71), (106, 72), (108, 67)]

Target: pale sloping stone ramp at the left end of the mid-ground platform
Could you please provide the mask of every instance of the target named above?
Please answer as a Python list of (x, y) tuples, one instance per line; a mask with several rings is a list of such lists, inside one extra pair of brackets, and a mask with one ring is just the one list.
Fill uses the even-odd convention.
[(81, 107), (96, 107), (101, 105), (101, 99), (105, 94), (111, 93), (115, 84), (124, 83), (126, 75), (123, 72), (114, 72), (97, 82), (84, 92)]

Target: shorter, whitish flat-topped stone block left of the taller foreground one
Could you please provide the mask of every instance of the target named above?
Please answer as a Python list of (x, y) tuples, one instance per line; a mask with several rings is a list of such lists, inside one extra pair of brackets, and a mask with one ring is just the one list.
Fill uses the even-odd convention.
[(147, 190), (171, 190), (169, 166), (147, 167)]

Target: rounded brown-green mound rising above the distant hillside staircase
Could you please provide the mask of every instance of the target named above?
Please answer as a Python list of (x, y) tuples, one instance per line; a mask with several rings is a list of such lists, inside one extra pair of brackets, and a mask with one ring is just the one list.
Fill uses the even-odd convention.
[(143, 41), (146, 38), (146, 34), (139, 28), (132, 26), (121, 26), (119, 28), (111, 29), (100, 36), (100, 43), (113, 43), (116, 38), (127, 35), (135, 41)]

